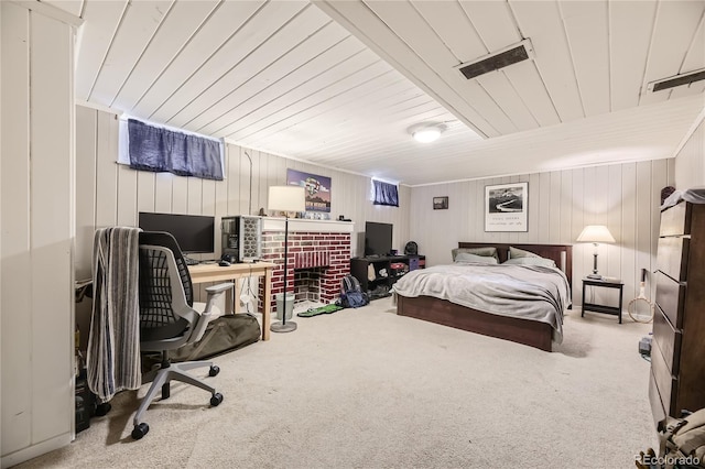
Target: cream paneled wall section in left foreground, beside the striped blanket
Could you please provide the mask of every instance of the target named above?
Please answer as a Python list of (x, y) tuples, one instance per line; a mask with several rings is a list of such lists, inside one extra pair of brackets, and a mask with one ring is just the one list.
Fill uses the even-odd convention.
[(73, 438), (75, 35), (52, 7), (0, 3), (0, 447), (10, 467)]

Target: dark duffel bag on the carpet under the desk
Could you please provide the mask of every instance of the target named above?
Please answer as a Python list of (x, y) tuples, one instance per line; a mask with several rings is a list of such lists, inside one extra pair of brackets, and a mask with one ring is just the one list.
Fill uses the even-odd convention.
[(254, 343), (261, 335), (260, 324), (251, 314), (227, 314), (210, 321), (200, 340), (171, 351), (169, 357), (174, 362), (202, 360)]

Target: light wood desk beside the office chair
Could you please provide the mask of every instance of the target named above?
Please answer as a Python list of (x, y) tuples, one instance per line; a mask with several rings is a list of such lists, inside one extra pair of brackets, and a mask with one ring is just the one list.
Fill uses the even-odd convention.
[(188, 265), (188, 273), (191, 274), (191, 283), (207, 283), (207, 282), (235, 282), (235, 296), (232, 290), (228, 290), (225, 295), (225, 313), (230, 314), (236, 312), (236, 305), (240, 297), (238, 279), (247, 279), (249, 276), (264, 277), (264, 296), (260, 298), (262, 301), (262, 340), (269, 340), (269, 323), (271, 317), (271, 296), (272, 296), (272, 270), (275, 264), (271, 262), (252, 262), (242, 264), (232, 264), (227, 268), (221, 268), (218, 264), (197, 264)]

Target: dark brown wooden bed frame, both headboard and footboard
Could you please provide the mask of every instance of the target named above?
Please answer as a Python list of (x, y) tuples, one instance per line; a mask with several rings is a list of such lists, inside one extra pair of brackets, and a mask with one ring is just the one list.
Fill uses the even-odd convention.
[[(458, 248), (495, 247), (499, 253), (499, 262), (507, 260), (510, 246), (531, 251), (542, 258), (553, 259), (567, 276), (568, 284), (573, 284), (573, 247), (570, 244), (458, 243)], [(499, 316), (431, 296), (411, 298), (398, 295), (397, 314), (551, 351), (553, 327), (545, 323)]]

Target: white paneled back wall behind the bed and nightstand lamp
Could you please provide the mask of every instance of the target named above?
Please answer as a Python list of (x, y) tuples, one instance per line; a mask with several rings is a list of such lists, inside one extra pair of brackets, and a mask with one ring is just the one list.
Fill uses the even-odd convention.
[[(607, 225), (617, 242), (599, 247), (598, 270), (625, 281), (626, 307), (641, 268), (655, 270), (660, 193), (673, 179), (671, 159), (414, 187), (410, 232), (429, 265), (451, 262), (458, 241), (574, 243), (573, 303), (579, 306), (579, 280), (592, 272), (594, 249), (575, 240), (585, 225)], [(485, 186), (517, 182), (529, 183), (529, 231), (485, 232)], [(433, 209), (437, 196), (449, 197), (447, 210)]]

